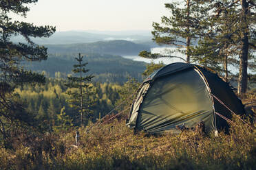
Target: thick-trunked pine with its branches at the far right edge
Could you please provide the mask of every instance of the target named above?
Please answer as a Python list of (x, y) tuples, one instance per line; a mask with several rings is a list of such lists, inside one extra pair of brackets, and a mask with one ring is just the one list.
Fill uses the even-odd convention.
[(255, 21), (256, 21), (256, 3), (250, 0), (237, 0), (228, 1), (228, 5), (215, 3), (215, 16), (220, 16), (230, 8), (236, 8), (237, 14), (235, 14), (236, 20), (233, 22), (233, 29), (237, 32), (236, 45), (239, 55), (239, 76), (238, 76), (238, 88), (237, 93), (243, 94), (247, 90), (248, 82), (248, 57), (250, 55), (250, 48), (256, 48), (255, 45)]

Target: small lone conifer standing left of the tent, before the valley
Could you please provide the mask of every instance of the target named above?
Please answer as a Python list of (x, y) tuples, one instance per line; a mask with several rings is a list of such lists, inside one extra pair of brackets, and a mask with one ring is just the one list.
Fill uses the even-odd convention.
[(89, 114), (92, 114), (92, 111), (89, 109), (95, 103), (95, 99), (90, 98), (90, 96), (95, 94), (95, 91), (92, 88), (92, 85), (89, 85), (89, 82), (92, 81), (93, 75), (85, 75), (89, 70), (85, 69), (87, 62), (83, 63), (83, 56), (81, 53), (78, 53), (78, 58), (75, 58), (78, 64), (74, 64), (72, 73), (78, 74), (76, 76), (67, 77), (68, 83), (66, 84), (69, 88), (75, 88), (73, 90), (68, 89), (67, 95), (70, 95), (68, 102), (72, 107), (78, 108), (80, 113), (80, 125), (83, 125), (84, 114), (87, 114), (87, 120), (89, 120)]

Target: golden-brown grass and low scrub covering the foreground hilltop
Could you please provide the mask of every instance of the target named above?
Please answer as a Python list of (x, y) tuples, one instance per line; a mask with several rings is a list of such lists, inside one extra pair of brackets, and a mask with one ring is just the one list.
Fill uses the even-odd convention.
[(17, 136), (0, 147), (0, 169), (256, 169), (256, 125), (233, 119), (230, 134), (134, 135), (124, 121), (42, 136)]

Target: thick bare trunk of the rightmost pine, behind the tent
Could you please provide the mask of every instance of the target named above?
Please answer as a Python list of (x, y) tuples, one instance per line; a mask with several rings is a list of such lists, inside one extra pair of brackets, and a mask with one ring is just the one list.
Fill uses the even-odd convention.
[(239, 77), (238, 77), (238, 88), (237, 93), (242, 95), (247, 90), (247, 66), (248, 66), (248, 23), (246, 16), (248, 14), (248, 3), (246, 0), (241, 0), (242, 5), (242, 49), (239, 56)]

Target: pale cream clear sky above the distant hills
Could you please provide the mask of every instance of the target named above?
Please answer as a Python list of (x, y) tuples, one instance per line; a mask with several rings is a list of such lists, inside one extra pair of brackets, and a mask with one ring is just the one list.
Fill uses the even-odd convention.
[(12, 19), (53, 25), (56, 31), (151, 30), (153, 22), (169, 15), (164, 3), (171, 0), (39, 0), (30, 5), (26, 19)]

